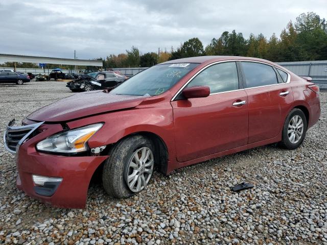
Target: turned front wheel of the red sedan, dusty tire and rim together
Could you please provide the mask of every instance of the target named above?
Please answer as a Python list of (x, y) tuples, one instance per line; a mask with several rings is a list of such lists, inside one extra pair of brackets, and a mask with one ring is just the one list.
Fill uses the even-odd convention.
[(145, 189), (154, 168), (154, 146), (141, 135), (117, 143), (105, 161), (102, 182), (114, 198), (129, 198)]

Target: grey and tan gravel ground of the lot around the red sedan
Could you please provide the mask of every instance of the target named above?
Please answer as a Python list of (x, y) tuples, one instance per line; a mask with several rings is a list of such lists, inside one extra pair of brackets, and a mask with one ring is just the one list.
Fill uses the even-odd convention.
[[(0, 132), (72, 93), (64, 82), (1, 85)], [(275, 144), (155, 174), (147, 190), (115, 200), (92, 184), (87, 207), (46, 206), (17, 190), (15, 157), (0, 144), (0, 243), (327, 244), (327, 93), (295, 151)], [(241, 182), (255, 187), (239, 193)], [(30, 243), (29, 243), (30, 242)]]

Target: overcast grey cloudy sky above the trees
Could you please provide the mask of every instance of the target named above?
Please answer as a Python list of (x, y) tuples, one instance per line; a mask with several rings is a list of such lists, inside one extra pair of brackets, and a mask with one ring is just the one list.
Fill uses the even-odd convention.
[(248, 38), (277, 36), (303, 12), (327, 17), (326, 0), (0, 0), (0, 53), (79, 59), (203, 45), (235, 29)]

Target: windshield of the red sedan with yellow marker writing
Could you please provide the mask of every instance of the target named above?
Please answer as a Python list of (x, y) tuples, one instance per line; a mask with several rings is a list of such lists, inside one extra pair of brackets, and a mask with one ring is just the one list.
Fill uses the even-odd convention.
[(119, 87), (111, 90), (110, 93), (138, 96), (158, 95), (166, 92), (198, 65), (196, 63), (155, 65), (134, 75)]

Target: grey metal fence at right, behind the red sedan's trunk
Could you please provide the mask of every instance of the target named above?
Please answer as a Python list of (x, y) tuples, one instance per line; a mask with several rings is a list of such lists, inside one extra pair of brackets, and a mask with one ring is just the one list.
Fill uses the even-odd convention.
[(327, 89), (327, 60), (277, 62), (298, 76), (311, 77), (320, 89)]

